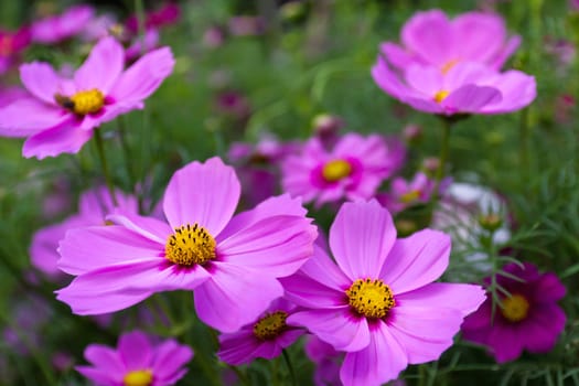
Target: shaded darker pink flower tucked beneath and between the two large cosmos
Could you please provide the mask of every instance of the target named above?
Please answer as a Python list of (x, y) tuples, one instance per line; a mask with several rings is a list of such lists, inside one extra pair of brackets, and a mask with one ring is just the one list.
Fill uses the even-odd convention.
[(262, 357), (272, 360), (305, 332), (286, 324), (296, 305), (283, 298), (271, 302), (267, 311), (239, 331), (219, 336), (219, 360), (230, 365), (242, 365)]

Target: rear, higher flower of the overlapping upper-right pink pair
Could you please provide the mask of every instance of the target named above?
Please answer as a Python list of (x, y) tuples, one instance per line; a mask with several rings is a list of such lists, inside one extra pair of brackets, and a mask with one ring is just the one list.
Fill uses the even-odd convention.
[(435, 66), (447, 73), (461, 62), (498, 69), (521, 44), (506, 36), (504, 20), (493, 13), (468, 12), (449, 20), (441, 10), (417, 12), (403, 26), (403, 45), (386, 42), (382, 54), (395, 67)]

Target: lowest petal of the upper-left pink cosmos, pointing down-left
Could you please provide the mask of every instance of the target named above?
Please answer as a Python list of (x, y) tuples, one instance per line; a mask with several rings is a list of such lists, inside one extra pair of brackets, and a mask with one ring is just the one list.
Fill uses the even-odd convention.
[(41, 131), (30, 137), (22, 148), (25, 158), (56, 157), (62, 153), (77, 153), (93, 137), (93, 131), (81, 130), (74, 120)]

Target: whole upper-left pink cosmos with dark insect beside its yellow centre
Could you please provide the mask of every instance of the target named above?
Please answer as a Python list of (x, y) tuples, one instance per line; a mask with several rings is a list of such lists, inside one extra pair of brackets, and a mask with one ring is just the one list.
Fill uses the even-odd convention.
[(152, 51), (124, 71), (125, 50), (114, 37), (101, 39), (72, 79), (47, 63), (20, 67), (29, 92), (0, 109), (0, 136), (28, 137), (23, 156), (42, 159), (76, 153), (93, 130), (120, 114), (143, 108), (173, 69), (169, 47)]

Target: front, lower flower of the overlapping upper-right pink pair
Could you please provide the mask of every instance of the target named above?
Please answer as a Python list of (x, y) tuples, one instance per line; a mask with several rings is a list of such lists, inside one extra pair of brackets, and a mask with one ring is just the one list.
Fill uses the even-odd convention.
[(447, 116), (511, 112), (529, 105), (537, 94), (533, 76), (515, 69), (498, 73), (474, 62), (460, 62), (446, 73), (436, 66), (410, 64), (397, 74), (378, 57), (372, 76), (399, 101)]

